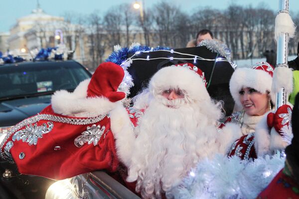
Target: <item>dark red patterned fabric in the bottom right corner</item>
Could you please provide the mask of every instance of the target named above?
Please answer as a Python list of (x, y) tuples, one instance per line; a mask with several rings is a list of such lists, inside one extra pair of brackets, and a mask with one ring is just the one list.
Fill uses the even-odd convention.
[(299, 185), (282, 169), (257, 199), (299, 199)]

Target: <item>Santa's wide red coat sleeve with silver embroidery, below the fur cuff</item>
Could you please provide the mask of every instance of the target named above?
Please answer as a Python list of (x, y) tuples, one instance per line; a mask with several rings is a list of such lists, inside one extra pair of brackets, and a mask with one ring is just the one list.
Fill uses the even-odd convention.
[[(30, 127), (31, 124), (33, 128)], [(87, 129), (92, 125), (95, 125), (94, 129), (88, 132)], [(14, 134), (4, 142), (1, 155), (11, 154), (22, 174), (60, 180), (100, 169), (114, 172), (118, 168), (119, 159), (110, 129), (110, 118), (105, 115), (95, 118), (69, 117), (54, 113), (49, 105), (39, 114), (23, 120), (13, 128), (16, 128)], [(92, 135), (83, 138), (85, 140), (81, 147), (75, 145), (75, 139), (82, 137), (83, 132), (99, 133), (99, 141), (95, 140), (96, 146), (93, 142), (87, 142), (92, 140)], [(39, 134), (39, 138), (28, 143), (29, 139), (25, 136), (32, 134), (35, 138)], [(5, 148), (10, 148), (10, 154), (5, 153)]]

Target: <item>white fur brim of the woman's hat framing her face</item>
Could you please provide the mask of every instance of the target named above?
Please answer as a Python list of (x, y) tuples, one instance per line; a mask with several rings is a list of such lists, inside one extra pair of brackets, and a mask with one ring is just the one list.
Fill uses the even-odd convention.
[(230, 79), (229, 90), (235, 100), (237, 108), (240, 109), (242, 105), (239, 92), (242, 88), (250, 87), (265, 94), (266, 91), (271, 93), (271, 85), (272, 77), (267, 72), (256, 69), (239, 68), (235, 70)]

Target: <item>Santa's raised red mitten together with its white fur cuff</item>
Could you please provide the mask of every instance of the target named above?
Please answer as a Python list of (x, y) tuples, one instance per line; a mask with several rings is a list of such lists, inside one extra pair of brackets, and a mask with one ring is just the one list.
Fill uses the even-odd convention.
[(99, 65), (91, 79), (81, 82), (73, 93), (55, 92), (51, 99), (55, 113), (69, 116), (95, 117), (110, 111), (116, 101), (126, 97), (118, 87), (123, 81), (124, 70), (117, 64)]

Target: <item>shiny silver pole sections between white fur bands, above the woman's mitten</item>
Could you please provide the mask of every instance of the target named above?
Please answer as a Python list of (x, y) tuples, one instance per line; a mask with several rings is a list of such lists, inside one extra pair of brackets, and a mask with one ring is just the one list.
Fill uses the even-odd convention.
[[(280, 0), (279, 1), (279, 13), (286, 12), (289, 13), (289, 0)], [(279, 14), (278, 13), (278, 14)], [(289, 34), (283, 33), (277, 39), (277, 59), (276, 67), (289, 67), (288, 66), (288, 43), (289, 43)], [(276, 94), (276, 109), (281, 105), (287, 103), (287, 93), (285, 88), (282, 88)]]

